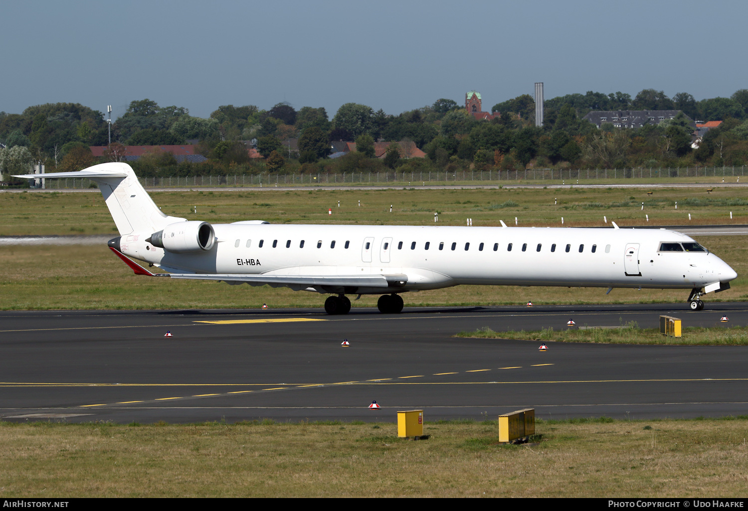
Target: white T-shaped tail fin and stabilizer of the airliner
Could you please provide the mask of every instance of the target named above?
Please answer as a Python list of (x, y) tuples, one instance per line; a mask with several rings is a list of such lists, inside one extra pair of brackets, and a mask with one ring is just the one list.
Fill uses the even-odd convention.
[[(39, 179), (39, 174), (25, 174), (25, 179)], [(86, 177), (99, 185), (106, 205), (114, 218), (120, 236), (132, 233), (156, 233), (167, 225), (186, 218), (165, 215), (149, 197), (132, 168), (126, 163), (113, 162), (93, 165), (78, 172), (44, 174), (49, 177)]]

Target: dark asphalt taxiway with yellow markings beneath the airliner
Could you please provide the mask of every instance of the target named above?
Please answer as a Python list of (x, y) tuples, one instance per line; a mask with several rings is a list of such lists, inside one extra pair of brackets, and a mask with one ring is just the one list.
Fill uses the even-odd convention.
[[(465, 339), (458, 331), (746, 325), (748, 303), (0, 313), (1, 420), (426, 420), (748, 414), (748, 346)], [(726, 314), (730, 322), (719, 321)], [(167, 331), (173, 337), (164, 337)], [(340, 343), (349, 340), (351, 346)], [(376, 400), (382, 407), (371, 411)]]

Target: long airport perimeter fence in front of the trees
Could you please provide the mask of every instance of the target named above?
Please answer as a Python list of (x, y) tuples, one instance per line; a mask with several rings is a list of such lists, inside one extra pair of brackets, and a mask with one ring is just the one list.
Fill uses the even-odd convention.
[[(668, 178), (736, 178), (745, 175), (741, 167), (672, 167), (672, 168), (590, 168), (583, 170), (528, 168), (521, 171), (465, 170), (411, 171), (411, 172), (343, 172), (343, 174), (249, 174), (217, 176), (139, 177), (146, 188), (241, 188), (261, 186), (424, 186), (453, 183), (454, 186), (470, 184), (543, 182), (549, 184), (574, 184), (578, 180), (657, 180)], [(87, 178), (45, 180), (46, 189), (88, 189), (96, 183)], [(568, 183), (567, 183), (568, 182)], [(33, 186), (33, 185), (32, 185)]]

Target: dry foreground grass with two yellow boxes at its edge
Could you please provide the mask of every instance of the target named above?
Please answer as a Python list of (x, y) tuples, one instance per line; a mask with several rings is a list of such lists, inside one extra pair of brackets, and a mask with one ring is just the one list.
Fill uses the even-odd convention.
[(748, 420), (0, 423), (0, 498), (734, 497), (748, 490)]

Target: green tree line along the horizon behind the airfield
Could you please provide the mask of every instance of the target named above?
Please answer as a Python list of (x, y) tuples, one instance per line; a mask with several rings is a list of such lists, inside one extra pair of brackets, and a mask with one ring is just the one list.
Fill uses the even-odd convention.
[[(598, 129), (583, 120), (589, 111), (681, 110), (691, 120), (722, 120), (692, 147), (693, 127), (679, 115), (637, 129)], [(269, 110), (255, 105), (222, 105), (203, 119), (187, 108), (136, 100), (111, 125), (113, 144), (104, 161), (122, 159), (126, 145), (174, 145), (192, 141), (207, 162), (177, 162), (171, 153), (153, 153), (131, 165), (142, 176), (381, 171), (459, 171), (523, 168), (631, 168), (748, 164), (748, 89), (731, 97), (701, 101), (687, 93), (667, 97), (645, 89), (634, 98), (616, 92), (568, 94), (545, 101), (542, 127), (534, 126), (535, 103), (528, 94), (499, 102), (490, 120), (476, 120), (464, 106), (441, 98), (401, 114), (346, 103), (332, 119), (325, 108), (296, 110), (286, 102)], [(78, 103), (0, 112), (0, 166), (4, 174), (28, 171), (32, 162), (48, 170), (73, 171), (99, 162), (89, 146), (108, 145), (109, 126), (100, 111)], [(285, 142), (298, 138), (298, 150)], [(332, 141), (355, 141), (357, 151), (329, 159)], [(251, 159), (256, 141), (263, 159)], [(414, 144), (424, 159), (408, 158), (390, 145), (374, 158), (375, 141)], [(402, 147), (402, 146), (401, 146)], [(25, 169), (25, 170), (23, 170)]]

